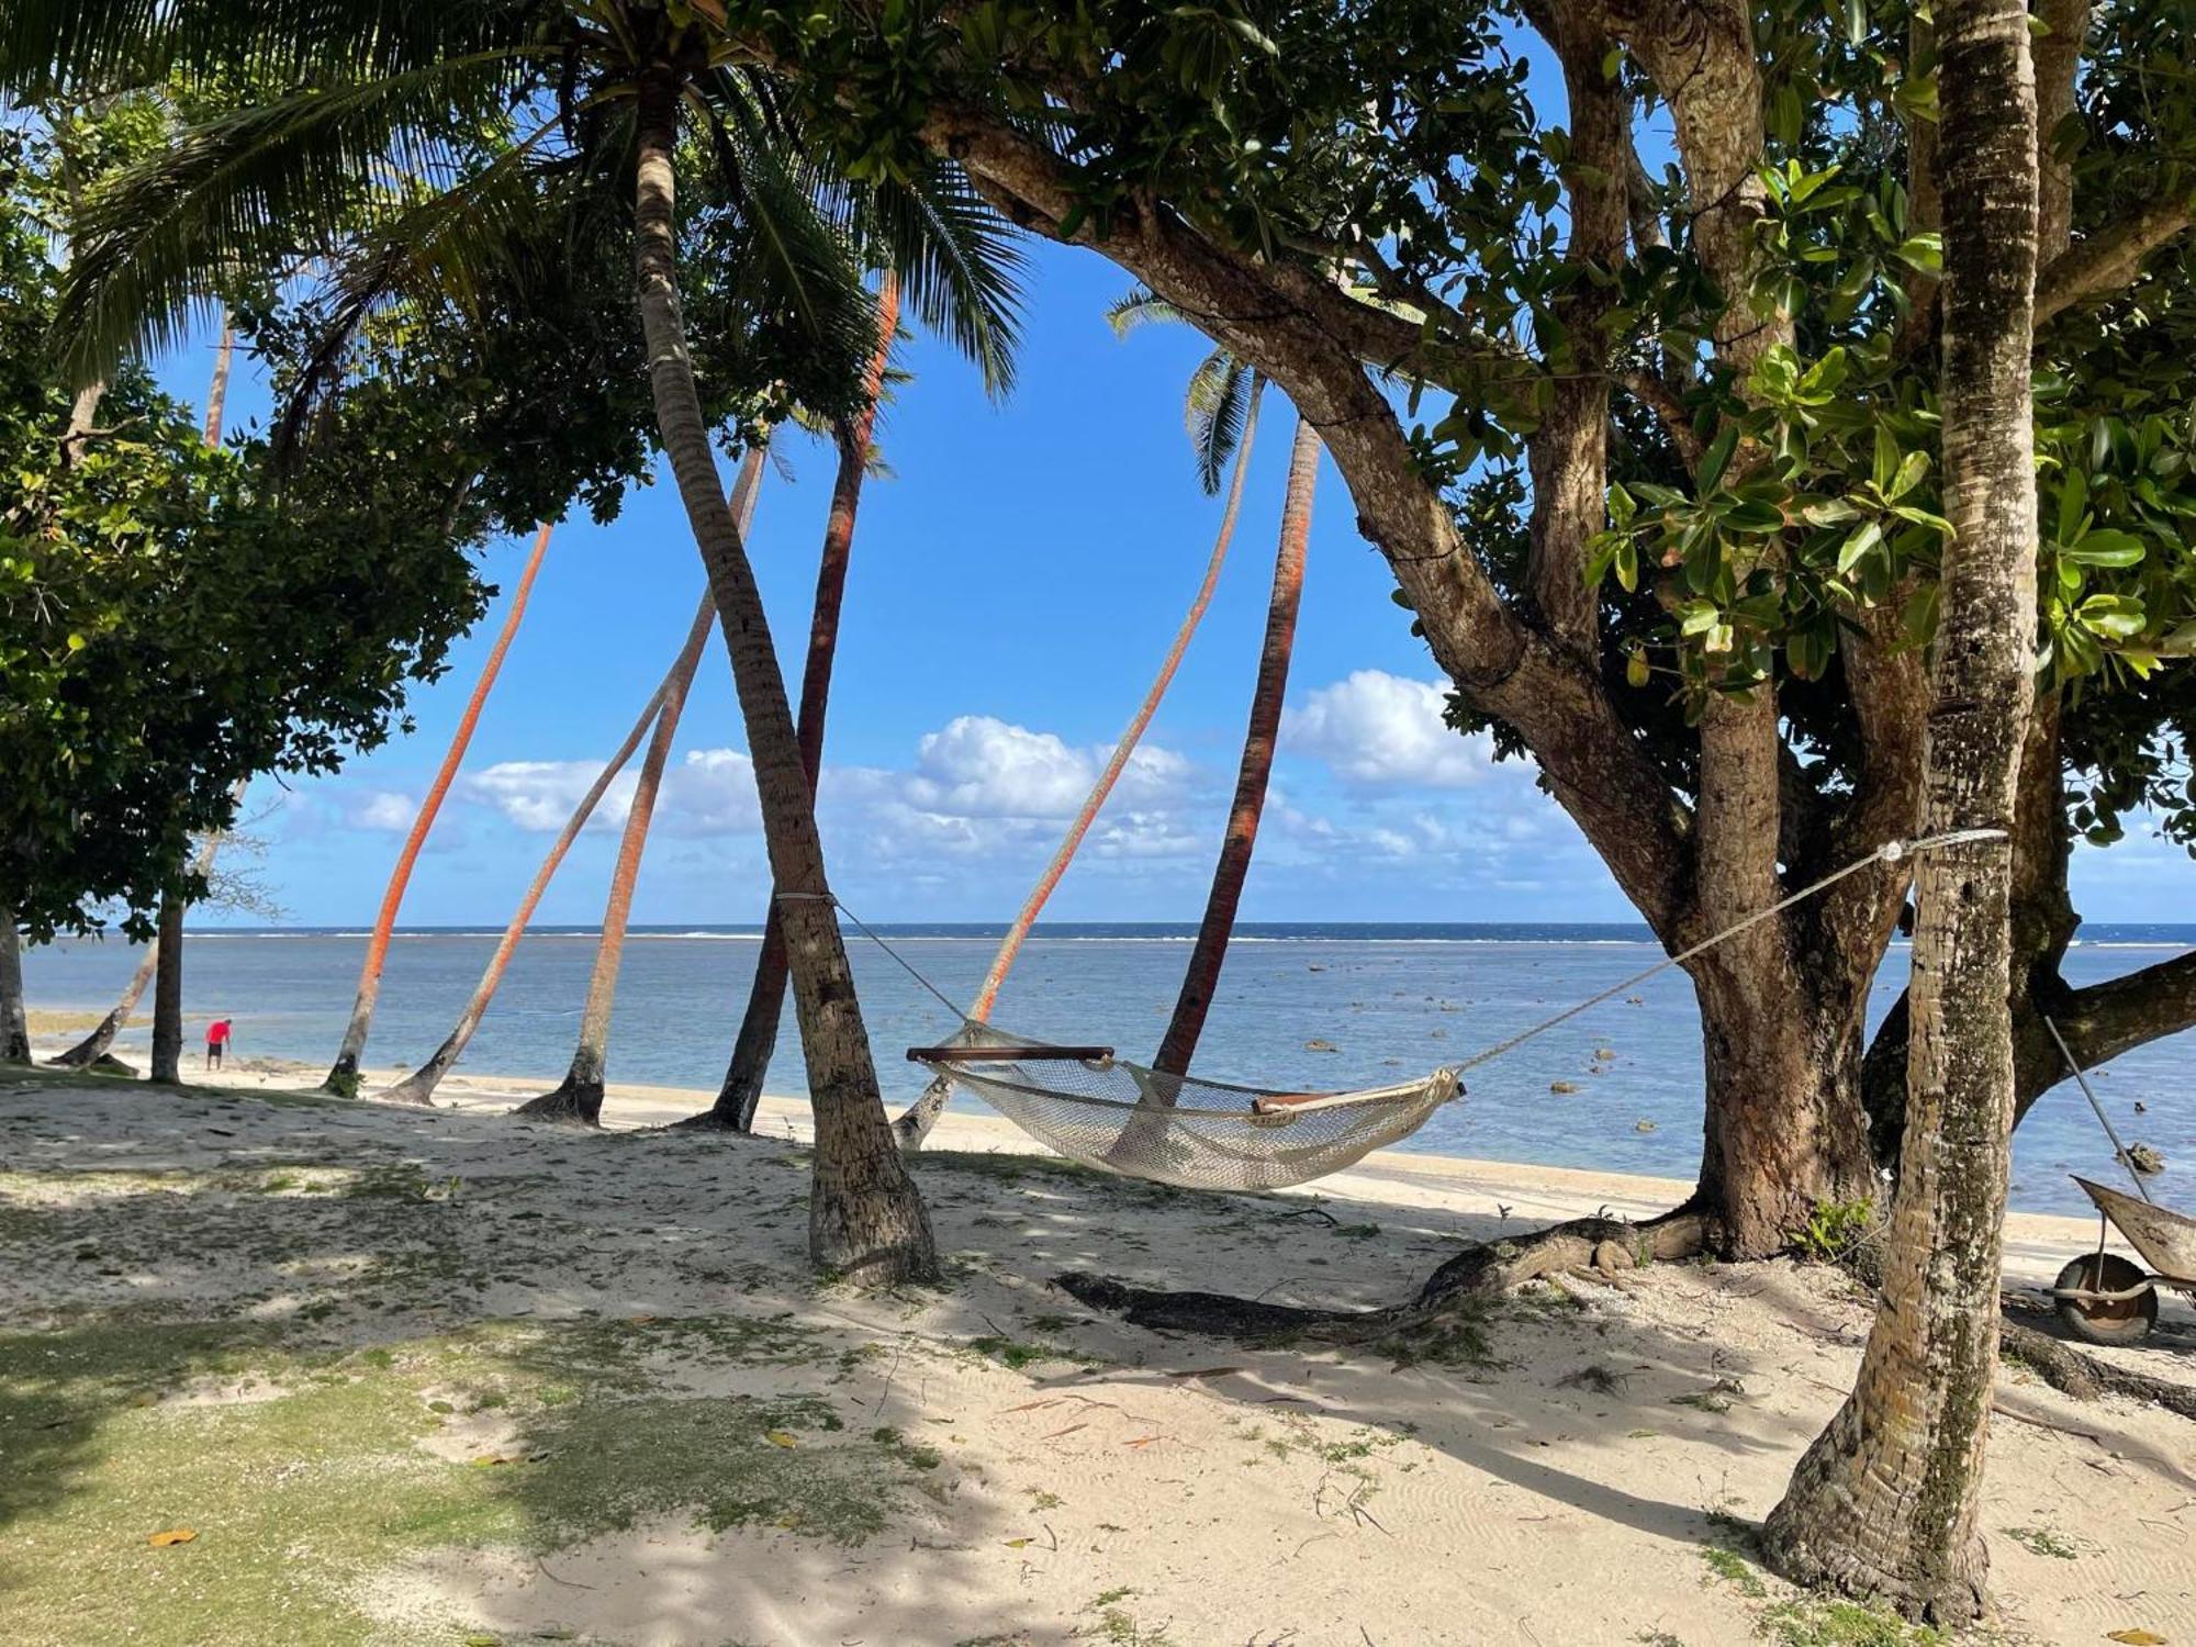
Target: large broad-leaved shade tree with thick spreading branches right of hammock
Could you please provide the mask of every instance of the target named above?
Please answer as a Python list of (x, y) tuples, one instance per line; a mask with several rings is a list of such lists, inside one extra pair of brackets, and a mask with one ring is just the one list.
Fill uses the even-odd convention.
[[(1280, 384), (1460, 718), (1533, 755), (1680, 946), (1917, 817), (1948, 531), (1935, 55), (1893, 7), (1522, 13), (1561, 127), (1495, 11), (1425, 0), (736, 7), (727, 51), (808, 88), (843, 156), (953, 156)], [(2055, 679), (2097, 692), (2161, 654), (2187, 595), (2185, 413), (2121, 441), (2084, 365), (2088, 316), (2183, 283), (2185, 26), (2106, 9), (2042, 92), (2073, 235), (2040, 347), (2091, 470), (2044, 621)], [(1656, 1241), (1770, 1252), (1873, 1192), (1864, 1006), (1906, 876), (1878, 861), (1689, 964), (1706, 1138)]]

